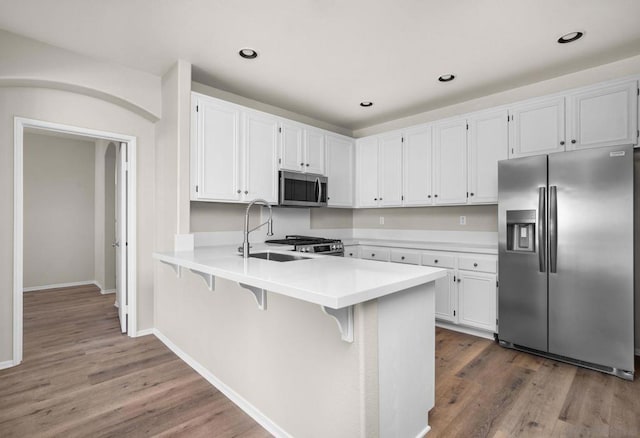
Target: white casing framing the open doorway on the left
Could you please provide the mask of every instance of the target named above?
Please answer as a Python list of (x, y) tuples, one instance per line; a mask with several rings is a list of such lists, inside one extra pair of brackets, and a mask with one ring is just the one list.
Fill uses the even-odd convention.
[(13, 365), (22, 362), (22, 330), (23, 330), (23, 154), (24, 130), (34, 128), (42, 131), (64, 134), (83, 135), (97, 139), (111, 140), (128, 145), (128, 184), (127, 184), (127, 296), (128, 312), (127, 334), (136, 336), (137, 324), (137, 290), (136, 290), (136, 138), (129, 135), (98, 131), (42, 120), (23, 117), (14, 118), (14, 150), (13, 150)]

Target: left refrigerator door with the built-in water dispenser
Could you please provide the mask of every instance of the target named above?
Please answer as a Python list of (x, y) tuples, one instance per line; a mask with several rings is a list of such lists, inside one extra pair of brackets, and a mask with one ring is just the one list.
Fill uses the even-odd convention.
[(547, 350), (547, 156), (498, 163), (498, 337)]

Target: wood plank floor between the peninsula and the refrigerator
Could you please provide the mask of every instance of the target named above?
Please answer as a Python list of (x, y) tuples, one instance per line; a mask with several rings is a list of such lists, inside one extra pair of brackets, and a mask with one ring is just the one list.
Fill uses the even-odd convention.
[(640, 380), (438, 328), (429, 423), (429, 438), (638, 437)]

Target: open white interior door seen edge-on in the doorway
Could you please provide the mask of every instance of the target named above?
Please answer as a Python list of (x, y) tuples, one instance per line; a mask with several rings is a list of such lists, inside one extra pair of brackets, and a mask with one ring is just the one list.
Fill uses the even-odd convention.
[(116, 303), (122, 333), (127, 332), (127, 143), (116, 154)]

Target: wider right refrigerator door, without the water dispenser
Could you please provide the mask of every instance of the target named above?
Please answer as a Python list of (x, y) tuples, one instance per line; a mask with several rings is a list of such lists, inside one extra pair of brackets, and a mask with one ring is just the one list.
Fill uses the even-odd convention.
[(549, 192), (549, 352), (632, 371), (632, 147), (550, 155)]

